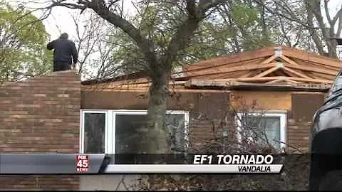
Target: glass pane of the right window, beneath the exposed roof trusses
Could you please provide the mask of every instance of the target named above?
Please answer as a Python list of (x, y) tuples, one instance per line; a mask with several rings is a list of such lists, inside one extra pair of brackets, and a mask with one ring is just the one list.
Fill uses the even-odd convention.
[(269, 144), (280, 149), (280, 117), (248, 116), (245, 120), (248, 127), (253, 129), (249, 134), (254, 141), (266, 144), (266, 135)]

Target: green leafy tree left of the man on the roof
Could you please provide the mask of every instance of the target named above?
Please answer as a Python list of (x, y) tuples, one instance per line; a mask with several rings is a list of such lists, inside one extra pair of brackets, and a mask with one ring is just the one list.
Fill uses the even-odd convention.
[(29, 11), (0, 2), (0, 82), (19, 80), (51, 68), (45, 26)]

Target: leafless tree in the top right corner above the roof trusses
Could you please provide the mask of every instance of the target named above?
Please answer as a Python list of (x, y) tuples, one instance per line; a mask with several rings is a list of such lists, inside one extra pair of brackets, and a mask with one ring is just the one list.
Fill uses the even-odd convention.
[(342, 6), (338, 7), (336, 14), (333, 15), (329, 9), (332, 1), (329, 0), (254, 1), (264, 6), (272, 15), (300, 24), (309, 31), (318, 53), (337, 58), (335, 38), (341, 36)]

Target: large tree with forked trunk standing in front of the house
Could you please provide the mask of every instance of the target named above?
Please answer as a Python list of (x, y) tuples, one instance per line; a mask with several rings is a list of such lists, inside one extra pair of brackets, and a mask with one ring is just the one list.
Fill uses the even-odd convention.
[[(140, 1), (145, 6), (138, 8), (140, 18), (136, 22), (147, 22), (148, 6), (162, 4), (172, 9), (177, 14), (177, 20), (168, 21), (169, 15), (155, 16), (154, 20), (149, 18), (145, 26), (139, 26), (129, 18), (125, 18), (120, 7), (122, 1), (105, 0), (82, 0), (82, 1), (51, 1), (53, 6), (66, 6), (71, 9), (91, 9), (98, 16), (108, 23), (123, 31), (133, 40), (134, 46), (139, 50), (142, 62), (145, 64), (145, 74), (152, 80), (149, 89), (148, 102), (148, 139), (150, 153), (169, 153), (170, 147), (167, 146), (165, 130), (165, 112), (167, 97), (169, 95), (170, 76), (177, 61), (179, 53), (184, 50), (192, 40), (195, 31), (200, 23), (204, 21), (217, 6), (225, 0), (214, 1)], [(160, 27), (155, 27), (154, 21), (165, 21)], [(141, 27), (146, 28), (146, 30)], [(169, 28), (172, 27), (172, 28)], [(163, 33), (156, 33), (155, 29), (168, 30), (167, 36)], [(160, 42), (165, 44), (160, 45)]]

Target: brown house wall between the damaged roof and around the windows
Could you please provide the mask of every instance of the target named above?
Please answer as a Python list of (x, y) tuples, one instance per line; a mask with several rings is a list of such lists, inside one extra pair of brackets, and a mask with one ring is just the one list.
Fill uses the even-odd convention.
[[(280, 110), (286, 112), (286, 141), (295, 148), (309, 146), (309, 132), (314, 112), (323, 105), (323, 92), (271, 92), (271, 91), (231, 91), (231, 92), (176, 92), (167, 103), (167, 110), (190, 111), (190, 138), (192, 146), (200, 147), (203, 142), (222, 134), (219, 127), (229, 105), (239, 110), (243, 105), (257, 111)], [(101, 92), (83, 90), (81, 109), (87, 110), (147, 110), (147, 92)], [(202, 114), (207, 120), (201, 120)], [(226, 127), (233, 127), (234, 117)], [(203, 119), (203, 118), (202, 118)], [(213, 130), (212, 122), (214, 123)], [(215, 134), (216, 133), (216, 134)], [(234, 138), (234, 130), (228, 130), (228, 137)], [(292, 149), (292, 148), (291, 148)]]

